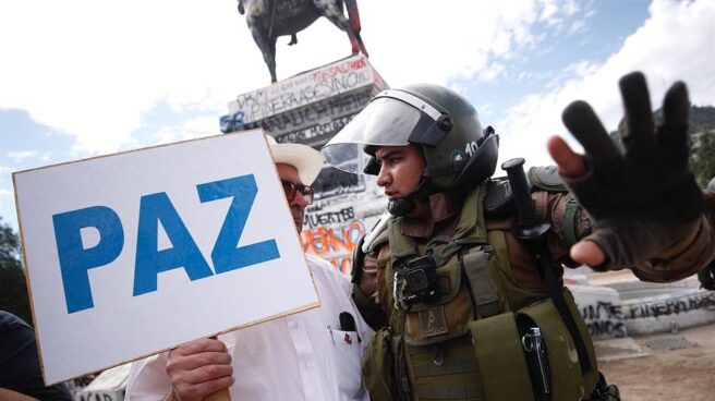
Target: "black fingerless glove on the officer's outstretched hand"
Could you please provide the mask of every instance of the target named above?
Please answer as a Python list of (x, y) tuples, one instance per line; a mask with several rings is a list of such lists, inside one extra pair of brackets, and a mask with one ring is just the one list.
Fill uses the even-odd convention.
[(590, 214), (594, 231), (586, 239), (604, 250), (606, 264), (633, 265), (695, 230), (703, 195), (689, 166), (686, 85), (678, 82), (668, 89), (657, 127), (643, 74), (628, 74), (619, 86), (626, 107), (625, 155), (591, 107), (574, 101), (562, 120), (583, 145), (589, 171), (562, 178)]

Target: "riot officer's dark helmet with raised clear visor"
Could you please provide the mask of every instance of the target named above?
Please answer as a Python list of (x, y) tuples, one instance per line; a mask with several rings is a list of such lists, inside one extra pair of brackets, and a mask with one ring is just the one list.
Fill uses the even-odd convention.
[[(377, 147), (419, 145), (426, 165), (421, 183), (402, 205), (388, 207), (404, 215), (416, 199), (476, 186), (492, 175), (498, 158), (498, 136), (493, 133), (490, 126), (482, 129), (474, 107), (455, 90), (416, 84), (379, 93), (320, 151), (338, 169), (377, 174)], [(359, 153), (366, 160), (356, 161)]]

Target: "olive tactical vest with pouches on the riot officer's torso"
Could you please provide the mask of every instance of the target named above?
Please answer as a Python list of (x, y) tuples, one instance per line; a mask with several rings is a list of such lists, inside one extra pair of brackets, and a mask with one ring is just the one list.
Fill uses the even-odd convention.
[[(373, 400), (572, 401), (596, 388), (593, 342), (571, 293), (563, 288), (593, 367), (585, 373), (547, 293), (517, 285), (505, 232), (486, 229), (485, 192), (483, 185), (469, 193), (451, 238), (419, 243), (402, 234), (397, 217), (367, 245), (386, 262), (392, 305), (389, 327), (363, 359)], [(426, 300), (410, 290), (425, 280), (411, 264), (423, 255), (436, 267)]]

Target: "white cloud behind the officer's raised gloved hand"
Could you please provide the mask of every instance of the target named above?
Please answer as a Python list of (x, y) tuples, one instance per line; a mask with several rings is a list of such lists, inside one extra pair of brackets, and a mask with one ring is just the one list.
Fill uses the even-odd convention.
[[(575, 99), (589, 101), (606, 129), (615, 130), (622, 117), (618, 80), (635, 70), (646, 76), (654, 108), (678, 80), (688, 84), (694, 104), (715, 104), (713, 3), (655, 1), (650, 14), (604, 63), (571, 64), (552, 81), (549, 90), (528, 95), (507, 110), (497, 123), (502, 132), (501, 159), (531, 155), (528, 163), (552, 162), (545, 150), (546, 138), (566, 134), (560, 114)], [(567, 139), (580, 148), (568, 134)]]

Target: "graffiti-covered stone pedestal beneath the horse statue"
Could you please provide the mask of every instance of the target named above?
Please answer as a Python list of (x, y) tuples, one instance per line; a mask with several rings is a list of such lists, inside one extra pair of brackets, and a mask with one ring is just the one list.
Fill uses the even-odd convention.
[[(263, 127), (278, 143), (319, 149), (387, 88), (367, 58), (352, 56), (239, 95), (221, 118), (221, 131)], [(377, 222), (387, 198), (373, 177), (348, 174), (328, 165), (313, 187), (316, 196), (303, 223), (303, 246), (349, 274), (352, 251)]]

